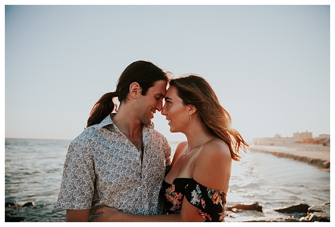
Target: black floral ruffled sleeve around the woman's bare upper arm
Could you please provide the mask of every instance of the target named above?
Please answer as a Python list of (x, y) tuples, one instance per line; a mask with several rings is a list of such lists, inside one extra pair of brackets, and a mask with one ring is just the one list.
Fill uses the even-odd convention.
[(199, 208), (199, 214), (210, 222), (218, 222), (222, 207), (226, 204), (227, 194), (222, 190), (204, 187), (193, 178), (185, 187), (185, 197), (193, 206)]

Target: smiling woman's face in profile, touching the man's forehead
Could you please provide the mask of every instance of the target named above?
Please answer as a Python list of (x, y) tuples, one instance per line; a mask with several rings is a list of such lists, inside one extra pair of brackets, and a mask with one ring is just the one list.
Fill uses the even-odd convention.
[(183, 100), (178, 97), (177, 89), (170, 86), (165, 94), (165, 104), (162, 115), (168, 120), (170, 132), (182, 132), (189, 127), (190, 116), (189, 106), (183, 104)]

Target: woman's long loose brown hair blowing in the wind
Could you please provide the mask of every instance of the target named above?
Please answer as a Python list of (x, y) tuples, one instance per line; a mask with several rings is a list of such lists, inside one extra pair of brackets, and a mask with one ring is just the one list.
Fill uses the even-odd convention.
[(201, 121), (218, 138), (224, 140), (230, 149), (232, 159), (238, 161), (240, 149), (246, 152), (248, 143), (232, 125), (230, 114), (219, 103), (218, 97), (210, 84), (199, 75), (184, 75), (169, 82), (177, 89), (178, 96), (184, 105), (194, 105)]

